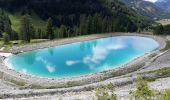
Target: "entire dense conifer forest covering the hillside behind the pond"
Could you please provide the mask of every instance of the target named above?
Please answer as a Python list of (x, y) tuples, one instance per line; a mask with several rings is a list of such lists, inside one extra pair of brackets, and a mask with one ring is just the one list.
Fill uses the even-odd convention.
[[(118, 0), (0, 0), (0, 7), (0, 36), (5, 32), (4, 37), (10, 40), (135, 32), (150, 25)], [(11, 28), (6, 12), (22, 14), (20, 32)], [(45, 29), (32, 25), (30, 16), (34, 13), (46, 21)]]

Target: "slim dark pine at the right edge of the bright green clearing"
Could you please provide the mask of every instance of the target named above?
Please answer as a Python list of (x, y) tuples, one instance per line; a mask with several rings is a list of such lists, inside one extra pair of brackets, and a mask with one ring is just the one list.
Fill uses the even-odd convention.
[(50, 40), (54, 39), (53, 20), (52, 20), (52, 18), (49, 18), (47, 20), (46, 34), (48, 36), (48, 39), (50, 39)]

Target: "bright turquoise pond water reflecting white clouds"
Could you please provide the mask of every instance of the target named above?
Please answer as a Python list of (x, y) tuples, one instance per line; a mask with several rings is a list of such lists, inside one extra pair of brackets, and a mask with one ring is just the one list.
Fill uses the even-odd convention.
[(117, 68), (157, 48), (159, 44), (150, 38), (116, 36), (25, 52), (6, 63), (29, 75), (73, 77)]

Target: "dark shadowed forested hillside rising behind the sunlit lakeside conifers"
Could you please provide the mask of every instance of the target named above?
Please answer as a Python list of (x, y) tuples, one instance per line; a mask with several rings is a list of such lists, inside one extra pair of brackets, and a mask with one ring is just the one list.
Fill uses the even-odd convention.
[(10, 13), (20, 12), (22, 15), (35, 13), (43, 20), (51, 17), (57, 27), (61, 25), (68, 28), (79, 27), (80, 17), (83, 15), (90, 20), (93, 19), (90, 16), (100, 15), (101, 22), (109, 19), (112, 23), (114, 21), (114, 25), (122, 23), (121, 30), (127, 30), (123, 29), (127, 26), (124, 25), (127, 19), (131, 21), (130, 24), (134, 23), (141, 29), (149, 23), (120, 0), (0, 0), (0, 7)]

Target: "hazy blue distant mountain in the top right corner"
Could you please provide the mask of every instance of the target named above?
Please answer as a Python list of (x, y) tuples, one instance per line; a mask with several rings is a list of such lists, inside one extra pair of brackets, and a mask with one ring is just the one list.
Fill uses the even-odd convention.
[(155, 4), (158, 7), (170, 12), (170, 0), (158, 0), (157, 2), (155, 2)]

